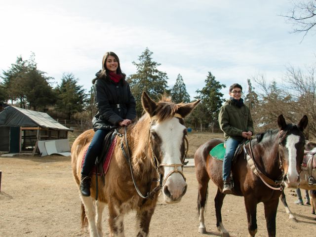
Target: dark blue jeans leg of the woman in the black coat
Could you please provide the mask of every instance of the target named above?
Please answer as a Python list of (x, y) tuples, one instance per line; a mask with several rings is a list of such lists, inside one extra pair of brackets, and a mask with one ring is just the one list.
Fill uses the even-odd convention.
[(96, 130), (90, 146), (88, 147), (87, 153), (81, 169), (81, 175), (89, 176), (91, 169), (95, 163), (95, 159), (100, 155), (102, 151), (102, 144), (105, 136), (108, 134), (107, 130)]

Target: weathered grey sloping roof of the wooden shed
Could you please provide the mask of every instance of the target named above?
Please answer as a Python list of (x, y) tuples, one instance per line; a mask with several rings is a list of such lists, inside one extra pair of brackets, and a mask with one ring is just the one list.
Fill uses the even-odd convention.
[(46, 113), (25, 110), (14, 106), (6, 107), (0, 113), (0, 125), (5, 126), (40, 126), (57, 130), (73, 131)]

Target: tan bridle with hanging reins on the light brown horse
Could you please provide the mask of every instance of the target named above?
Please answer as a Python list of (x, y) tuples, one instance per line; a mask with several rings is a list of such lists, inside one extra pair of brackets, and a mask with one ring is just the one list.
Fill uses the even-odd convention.
[[(175, 118), (182, 118), (182, 116), (180, 114), (174, 114)], [(150, 120), (150, 123), (152, 121), (152, 119), (156, 119), (156, 116), (153, 116), (151, 117), (151, 120)], [(165, 164), (165, 163), (160, 163), (159, 162), (159, 159), (157, 158), (155, 152), (154, 152), (154, 149), (153, 149), (153, 141), (152, 141), (152, 136), (151, 136), (151, 131), (150, 131), (150, 128), (149, 128), (149, 139), (147, 141), (147, 147), (148, 147), (148, 143), (150, 145), (150, 149), (151, 149), (151, 152), (152, 152), (152, 157), (153, 157), (153, 163), (155, 164), (155, 168), (156, 168), (156, 171), (158, 173), (158, 176), (159, 176), (159, 179), (154, 179), (153, 181), (156, 181), (156, 182), (159, 182), (158, 186), (156, 186), (151, 192), (148, 192), (147, 193), (147, 196), (144, 196), (142, 195), (142, 193), (140, 192), (140, 190), (138, 189), (137, 185), (136, 185), (136, 181), (134, 179), (134, 174), (133, 174), (133, 168), (132, 168), (132, 163), (131, 163), (131, 160), (130, 160), (130, 156), (129, 156), (129, 149), (128, 149), (128, 143), (127, 143), (127, 136), (126, 136), (126, 126), (124, 126), (124, 135), (123, 134), (120, 134), (118, 132), (118, 130), (116, 129), (115, 130), (115, 133), (121, 138), (121, 144), (120, 144), (120, 148), (122, 150), (122, 153), (127, 161), (127, 163), (129, 164), (129, 168), (130, 168), (130, 172), (131, 172), (131, 176), (132, 176), (132, 180), (133, 180), (133, 183), (134, 183), (134, 186), (135, 186), (135, 189), (138, 193), (138, 195), (142, 198), (151, 198), (153, 199), (155, 194), (158, 193), (160, 191), (160, 189), (165, 185), (167, 179), (173, 174), (173, 173), (180, 173), (183, 177), (183, 179), (186, 181), (186, 177), (184, 176), (183, 174), (183, 166), (184, 166), (184, 160), (188, 154), (188, 148), (189, 148), (189, 142), (188, 142), (188, 139), (187, 137), (185, 137), (185, 141), (186, 141), (186, 148), (185, 148), (185, 152), (183, 153), (183, 156), (181, 158), (181, 163), (172, 163), (172, 164)], [(124, 139), (123, 139), (123, 136), (124, 136)], [(127, 147), (127, 154), (125, 152), (125, 149), (124, 149), (124, 143), (123, 143), (123, 140), (125, 141), (125, 145)], [(148, 151), (148, 149), (147, 149)], [(148, 155), (148, 154), (147, 154)], [(146, 157), (147, 157), (146, 155)], [(162, 179), (163, 179), (163, 175), (161, 174), (160, 170), (159, 170), (159, 167), (162, 167), (162, 166), (167, 166), (167, 167), (174, 167), (173, 170), (171, 170), (166, 178), (164, 179), (164, 181), (162, 182)], [(178, 167), (181, 166), (181, 170), (178, 170)]]

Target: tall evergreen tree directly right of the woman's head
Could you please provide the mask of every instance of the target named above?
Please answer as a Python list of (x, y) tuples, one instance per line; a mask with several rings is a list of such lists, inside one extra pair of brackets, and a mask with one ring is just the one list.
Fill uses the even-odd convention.
[(167, 92), (167, 74), (157, 69), (159, 63), (153, 61), (152, 54), (148, 48), (139, 56), (139, 63), (132, 62), (136, 68), (136, 74), (127, 78), (131, 92), (136, 101), (136, 112), (140, 117), (143, 112), (141, 95), (146, 91), (152, 98), (158, 98), (159, 94)]

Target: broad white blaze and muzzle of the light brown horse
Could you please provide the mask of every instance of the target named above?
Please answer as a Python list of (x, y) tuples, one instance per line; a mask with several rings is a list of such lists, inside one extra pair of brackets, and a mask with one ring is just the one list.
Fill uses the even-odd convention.
[[(156, 131), (161, 139), (161, 152), (163, 164), (181, 164), (181, 145), (183, 142), (184, 130), (186, 127), (179, 123), (178, 118), (171, 118), (155, 124), (152, 129)], [(177, 169), (181, 171), (181, 166)], [(174, 170), (174, 167), (164, 166), (164, 179)], [(182, 197), (182, 194), (187, 186), (185, 180), (180, 173), (173, 173), (168, 177), (165, 186), (173, 200), (169, 200), (164, 195), (165, 201), (175, 201)]]

